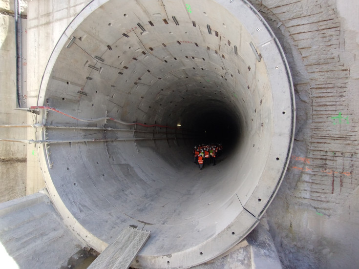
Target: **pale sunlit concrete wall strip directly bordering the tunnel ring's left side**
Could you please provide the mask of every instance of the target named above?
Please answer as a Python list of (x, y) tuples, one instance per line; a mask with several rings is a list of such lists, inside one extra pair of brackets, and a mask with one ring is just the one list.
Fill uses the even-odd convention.
[[(27, 105), (36, 105), (41, 78), (51, 52), (71, 20), (84, 8), (87, 0), (36, 0), (28, 2), (27, 17), (28, 58)], [(40, 41), (45, 41), (42, 43)], [(34, 124), (34, 117), (27, 116)], [(27, 130), (28, 139), (38, 139), (39, 133)], [(35, 151), (35, 153), (34, 153)], [(27, 146), (27, 194), (36, 193), (45, 186), (35, 145)]]

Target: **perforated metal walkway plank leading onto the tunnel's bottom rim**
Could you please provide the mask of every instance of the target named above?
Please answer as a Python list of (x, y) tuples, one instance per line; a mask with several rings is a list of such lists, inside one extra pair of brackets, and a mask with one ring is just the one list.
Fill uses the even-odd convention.
[(148, 237), (149, 231), (123, 229), (87, 269), (128, 269)]

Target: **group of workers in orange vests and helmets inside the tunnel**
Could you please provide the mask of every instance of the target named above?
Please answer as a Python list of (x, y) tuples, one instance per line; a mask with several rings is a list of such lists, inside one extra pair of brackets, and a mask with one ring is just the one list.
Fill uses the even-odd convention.
[(216, 158), (220, 155), (222, 149), (223, 147), (221, 144), (200, 144), (198, 146), (194, 146), (193, 163), (198, 164), (200, 170), (211, 163), (215, 166)]

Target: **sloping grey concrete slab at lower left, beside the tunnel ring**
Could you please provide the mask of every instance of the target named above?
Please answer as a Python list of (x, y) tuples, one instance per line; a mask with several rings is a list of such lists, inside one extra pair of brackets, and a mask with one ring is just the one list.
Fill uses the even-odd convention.
[(14, 269), (60, 268), (85, 247), (43, 193), (0, 205), (0, 246), (2, 268)]

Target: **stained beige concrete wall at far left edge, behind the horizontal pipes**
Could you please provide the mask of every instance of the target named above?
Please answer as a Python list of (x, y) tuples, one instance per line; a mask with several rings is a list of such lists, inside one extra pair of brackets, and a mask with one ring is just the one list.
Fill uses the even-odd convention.
[[(0, 125), (26, 124), (16, 108), (15, 22), (9, 1), (0, 2)], [(0, 138), (26, 139), (25, 128), (0, 128)], [(26, 194), (26, 145), (0, 142), (0, 202)]]

